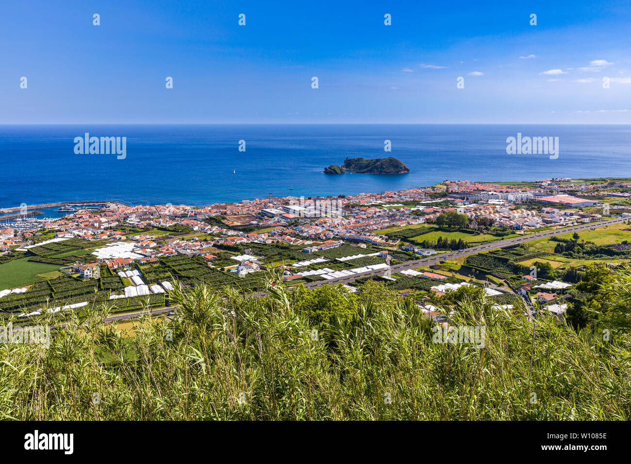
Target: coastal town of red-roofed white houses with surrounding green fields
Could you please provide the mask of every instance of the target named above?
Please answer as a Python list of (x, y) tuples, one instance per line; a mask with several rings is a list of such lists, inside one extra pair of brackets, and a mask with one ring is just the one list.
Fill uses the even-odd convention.
[[(376, 278), (417, 298), (428, 317), (440, 317), (433, 311), (436, 298), (463, 285), (483, 286), (498, 304), (509, 306), (518, 293), (528, 294), (531, 302), (563, 314), (572, 283), (562, 276), (589, 265), (569, 252), (552, 258), (559, 244), (570, 247), (563, 235), (546, 244), (466, 251), (542, 231), (631, 219), (629, 192), (631, 182), (611, 179), (444, 181), (403, 191), (270, 195), (203, 207), (62, 206), (67, 214), (61, 218), (24, 217), (0, 228), (0, 311), (27, 317), (91, 302), (111, 302), (119, 311), (163, 307), (174, 285), (202, 281), (216, 290), (232, 286), (256, 294), (262, 277), (280, 270), (287, 285), (348, 278), (343, 285), (349, 292)], [(621, 229), (620, 237), (625, 234), (631, 238)], [(586, 241), (603, 246), (596, 242)], [(618, 253), (604, 250), (606, 259), (594, 262), (614, 266), (631, 259), (626, 242), (606, 244), (617, 246)], [(445, 251), (465, 254), (394, 271)]]

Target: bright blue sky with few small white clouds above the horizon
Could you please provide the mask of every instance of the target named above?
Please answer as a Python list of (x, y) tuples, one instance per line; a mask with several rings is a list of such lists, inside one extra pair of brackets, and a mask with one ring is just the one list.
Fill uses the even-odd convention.
[(0, 8), (3, 124), (631, 122), (629, 2), (49, 0)]

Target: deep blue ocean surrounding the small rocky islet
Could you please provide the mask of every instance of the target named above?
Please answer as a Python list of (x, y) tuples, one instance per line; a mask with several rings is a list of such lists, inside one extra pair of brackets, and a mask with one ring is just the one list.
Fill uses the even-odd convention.
[[(126, 137), (126, 158), (76, 154), (74, 138), (85, 133)], [(517, 133), (558, 137), (558, 158), (507, 155), (506, 139)], [(391, 152), (384, 152), (386, 140)], [(0, 207), (76, 199), (201, 206), (270, 193), (380, 192), (445, 179), (631, 177), (630, 147), (631, 126), (607, 125), (6, 125), (0, 126)], [(346, 157), (387, 156), (411, 172), (322, 174)]]

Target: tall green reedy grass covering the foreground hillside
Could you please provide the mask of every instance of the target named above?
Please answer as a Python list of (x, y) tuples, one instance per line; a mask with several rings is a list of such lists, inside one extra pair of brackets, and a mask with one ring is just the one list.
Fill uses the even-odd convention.
[[(94, 308), (49, 348), (0, 346), (0, 417), (19, 420), (549, 420), (631, 412), (631, 341), (533, 321), (483, 297), (454, 326), (485, 347), (434, 343), (411, 300), (370, 301), (314, 331), (281, 278), (269, 297), (200, 285), (172, 294), (170, 323), (126, 338)], [(46, 316), (49, 324), (55, 317)], [(39, 322), (41, 323), (41, 322)], [(534, 328), (534, 332), (533, 332)], [(534, 343), (533, 343), (534, 333)]]

